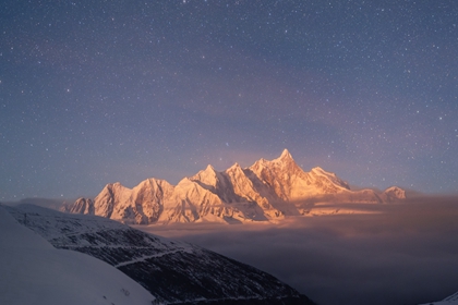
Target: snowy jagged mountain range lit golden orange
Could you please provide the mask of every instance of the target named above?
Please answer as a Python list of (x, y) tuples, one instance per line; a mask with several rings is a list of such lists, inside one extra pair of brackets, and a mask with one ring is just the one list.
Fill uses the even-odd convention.
[(304, 172), (285, 149), (277, 159), (261, 159), (243, 169), (239, 163), (225, 171), (208, 166), (177, 185), (155, 178), (133, 188), (110, 183), (95, 199), (79, 198), (61, 210), (131, 224), (243, 223), (338, 212), (322, 208), (324, 203), (384, 204), (403, 198), (406, 192), (397, 186), (384, 192), (352, 191), (347, 182), (320, 167)]

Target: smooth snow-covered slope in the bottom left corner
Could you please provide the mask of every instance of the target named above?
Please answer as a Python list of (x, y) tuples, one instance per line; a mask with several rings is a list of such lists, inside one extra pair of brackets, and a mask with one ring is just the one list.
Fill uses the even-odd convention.
[(152, 304), (155, 297), (108, 264), (55, 248), (0, 205), (0, 304)]

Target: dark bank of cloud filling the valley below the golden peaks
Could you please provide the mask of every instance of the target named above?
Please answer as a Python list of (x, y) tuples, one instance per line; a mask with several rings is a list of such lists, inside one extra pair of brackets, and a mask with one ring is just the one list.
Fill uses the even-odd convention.
[(420, 304), (458, 291), (458, 196), (348, 206), (371, 213), (136, 228), (252, 265), (322, 305)]

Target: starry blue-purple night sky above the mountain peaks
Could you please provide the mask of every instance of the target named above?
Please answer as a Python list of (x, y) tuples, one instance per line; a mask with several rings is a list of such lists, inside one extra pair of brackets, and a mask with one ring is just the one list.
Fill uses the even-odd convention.
[(3, 0), (0, 16), (0, 200), (284, 148), (353, 186), (458, 192), (454, 0)]

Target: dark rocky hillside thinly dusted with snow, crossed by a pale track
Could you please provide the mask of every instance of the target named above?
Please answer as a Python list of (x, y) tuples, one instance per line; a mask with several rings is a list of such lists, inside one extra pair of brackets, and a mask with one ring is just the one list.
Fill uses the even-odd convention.
[[(32, 205), (9, 207), (8, 211), (55, 247), (85, 253), (118, 268), (160, 303), (313, 304), (291, 286), (251, 266), (107, 218)], [(79, 283), (75, 286), (80, 289)]]

